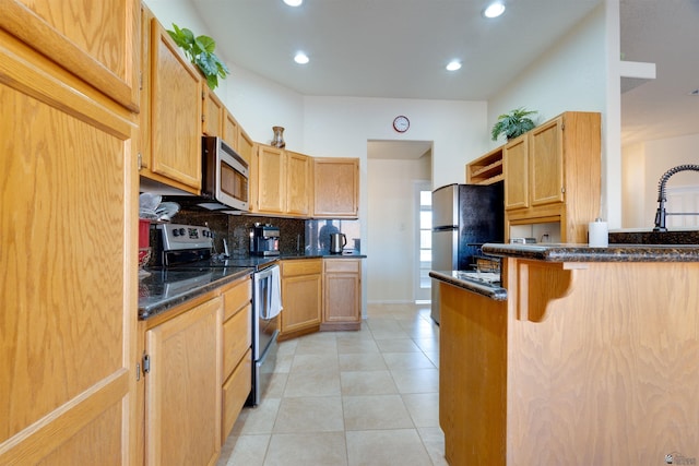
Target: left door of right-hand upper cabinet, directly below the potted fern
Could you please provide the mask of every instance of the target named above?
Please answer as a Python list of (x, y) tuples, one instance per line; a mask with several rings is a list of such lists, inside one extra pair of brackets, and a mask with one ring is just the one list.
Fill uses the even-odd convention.
[(505, 210), (529, 207), (529, 150), (526, 134), (508, 143), (502, 151)]

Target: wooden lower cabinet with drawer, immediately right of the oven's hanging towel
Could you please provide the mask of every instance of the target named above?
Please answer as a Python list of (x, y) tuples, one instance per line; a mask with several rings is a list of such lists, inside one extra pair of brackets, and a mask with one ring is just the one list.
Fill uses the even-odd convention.
[(282, 318), (279, 339), (318, 331), (322, 306), (322, 259), (282, 261)]

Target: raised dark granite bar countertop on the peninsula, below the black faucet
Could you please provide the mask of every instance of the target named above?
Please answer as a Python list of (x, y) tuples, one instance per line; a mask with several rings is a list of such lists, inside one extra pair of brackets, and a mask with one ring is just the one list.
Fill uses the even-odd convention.
[(699, 244), (588, 244), (485, 243), (483, 252), (500, 258), (532, 259), (545, 262), (699, 262)]

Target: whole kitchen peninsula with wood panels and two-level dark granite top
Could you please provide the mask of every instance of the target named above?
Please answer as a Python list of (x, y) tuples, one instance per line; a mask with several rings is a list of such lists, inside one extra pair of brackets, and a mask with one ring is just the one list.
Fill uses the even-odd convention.
[(500, 286), (430, 273), (449, 463), (696, 464), (699, 247), (483, 251)]

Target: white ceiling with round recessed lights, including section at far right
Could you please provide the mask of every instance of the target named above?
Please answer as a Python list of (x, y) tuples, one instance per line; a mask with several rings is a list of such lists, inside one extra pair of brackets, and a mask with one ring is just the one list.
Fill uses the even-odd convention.
[[(304, 95), (487, 100), (603, 0), (199, 0), (217, 50)], [(699, 0), (620, 0), (625, 59), (657, 79), (623, 95), (623, 139), (699, 133)], [(310, 57), (298, 65), (297, 50)], [(457, 72), (445, 65), (463, 62)], [(424, 152), (423, 146), (413, 154)]]

